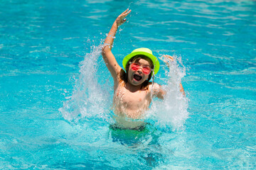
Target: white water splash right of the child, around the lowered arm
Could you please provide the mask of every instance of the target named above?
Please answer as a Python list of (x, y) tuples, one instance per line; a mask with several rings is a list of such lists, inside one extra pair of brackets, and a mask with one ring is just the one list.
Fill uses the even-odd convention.
[(152, 101), (149, 116), (152, 116), (160, 127), (182, 129), (188, 118), (188, 98), (181, 92), (180, 86), (181, 79), (186, 75), (186, 68), (181, 62), (181, 57), (174, 56), (174, 60), (166, 57), (160, 59), (169, 65), (169, 69), (165, 70), (166, 85), (163, 86), (167, 94), (163, 101)]

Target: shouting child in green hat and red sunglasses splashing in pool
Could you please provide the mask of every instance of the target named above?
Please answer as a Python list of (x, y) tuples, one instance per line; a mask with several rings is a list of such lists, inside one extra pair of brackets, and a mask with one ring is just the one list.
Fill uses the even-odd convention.
[[(140, 130), (145, 126), (145, 123), (138, 119), (144, 117), (144, 113), (151, 103), (151, 98), (156, 96), (163, 99), (166, 91), (161, 89), (159, 84), (149, 82), (160, 67), (159, 60), (152, 55), (151, 50), (138, 48), (124, 57), (122, 64), (125, 71), (117, 64), (117, 60), (111, 52), (117, 28), (127, 21), (125, 17), (130, 12), (131, 10), (127, 9), (114, 21), (105, 40), (102, 57), (114, 79), (113, 106), (114, 119), (116, 120), (114, 127)], [(164, 55), (164, 57), (172, 59), (169, 55)]]

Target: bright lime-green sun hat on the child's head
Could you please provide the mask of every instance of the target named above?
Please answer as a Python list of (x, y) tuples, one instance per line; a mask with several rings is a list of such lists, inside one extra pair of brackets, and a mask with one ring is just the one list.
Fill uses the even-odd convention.
[(124, 69), (127, 66), (127, 62), (129, 62), (129, 60), (135, 55), (145, 55), (146, 57), (149, 57), (149, 59), (154, 64), (154, 74), (156, 74), (159, 71), (159, 60), (157, 60), (157, 58), (153, 55), (152, 51), (149, 50), (149, 48), (137, 48), (133, 50), (129, 55), (125, 56), (122, 62)]

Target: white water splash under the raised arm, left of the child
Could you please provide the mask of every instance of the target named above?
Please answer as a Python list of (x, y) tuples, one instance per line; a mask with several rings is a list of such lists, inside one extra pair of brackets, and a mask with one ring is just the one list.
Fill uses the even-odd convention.
[(109, 92), (98, 83), (101, 76), (98, 72), (101, 66), (98, 59), (101, 56), (102, 44), (92, 46), (90, 50), (80, 62), (80, 75), (75, 81), (72, 96), (59, 109), (65, 120), (77, 122), (85, 117), (109, 120)]

